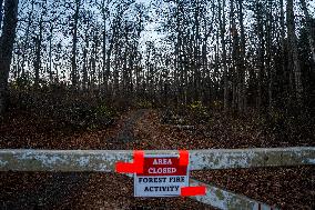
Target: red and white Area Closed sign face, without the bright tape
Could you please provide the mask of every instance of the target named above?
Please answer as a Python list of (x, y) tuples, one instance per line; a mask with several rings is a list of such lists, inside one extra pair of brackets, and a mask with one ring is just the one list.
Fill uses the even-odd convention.
[(143, 172), (134, 174), (135, 197), (181, 196), (189, 186), (189, 166), (180, 164), (176, 154), (145, 154)]

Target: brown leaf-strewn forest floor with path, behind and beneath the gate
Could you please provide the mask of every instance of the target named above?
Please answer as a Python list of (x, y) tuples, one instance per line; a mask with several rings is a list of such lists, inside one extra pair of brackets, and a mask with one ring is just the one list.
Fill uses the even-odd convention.
[[(18, 111), (0, 122), (0, 148), (210, 149), (313, 146), (214, 116), (212, 123), (161, 122), (161, 110), (130, 110), (98, 130), (62, 127)], [(194, 171), (192, 178), (283, 209), (315, 208), (314, 166)], [(187, 198), (133, 197), (131, 178), (116, 173), (0, 172), (0, 209), (212, 209)]]

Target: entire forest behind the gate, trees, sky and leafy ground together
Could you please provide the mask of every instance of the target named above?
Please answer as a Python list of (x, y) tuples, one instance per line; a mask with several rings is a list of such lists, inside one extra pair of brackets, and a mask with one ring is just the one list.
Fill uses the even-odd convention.
[[(314, 0), (0, 0), (0, 36), (1, 149), (315, 146)], [(194, 176), (283, 209), (315, 207), (314, 166), (263, 170)], [(91, 176), (83, 189), (84, 173), (0, 172), (10, 180), (0, 209), (64, 208), (40, 187), (57, 180), (75, 182), (55, 187), (65, 209), (126, 207), (98, 189), (123, 178)], [(21, 177), (44, 192), (21, 199)], [(207, 209), (128, 199), (131, 209)]]

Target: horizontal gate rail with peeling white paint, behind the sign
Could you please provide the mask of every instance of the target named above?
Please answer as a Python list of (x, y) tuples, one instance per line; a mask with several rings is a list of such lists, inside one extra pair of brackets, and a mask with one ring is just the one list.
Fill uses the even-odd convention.
[[(177, 153), (176, 150), (146, 150)], [(132, 161), (132, 150), (0, 150), (0, 171), (114, 171)], [(231, 169), (315, 164), (314, 147), (190, 150), (190, 169)]]

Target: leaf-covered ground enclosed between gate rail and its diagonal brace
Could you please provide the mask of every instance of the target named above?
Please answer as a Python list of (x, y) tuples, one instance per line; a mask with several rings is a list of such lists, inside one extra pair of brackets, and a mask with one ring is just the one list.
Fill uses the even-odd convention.
[(314, 166), (194, 171), (192, 177), (281, 209), (314, 209)]

